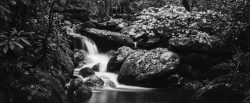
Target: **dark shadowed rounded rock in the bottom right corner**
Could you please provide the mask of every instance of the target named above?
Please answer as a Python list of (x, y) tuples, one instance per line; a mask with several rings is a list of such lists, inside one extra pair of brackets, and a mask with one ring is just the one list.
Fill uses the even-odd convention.
[(245, 96), (224, 84), (210, 85), (196, 92), (196, 103), (241, 103)]

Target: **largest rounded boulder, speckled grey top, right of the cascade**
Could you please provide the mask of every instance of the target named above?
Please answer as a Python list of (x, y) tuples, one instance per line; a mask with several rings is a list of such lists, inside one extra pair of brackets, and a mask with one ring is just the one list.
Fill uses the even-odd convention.
[(139, 86), (165, 86), (176, 73), (180, 58), (164, 48), (138, 50), (123, 62), (118, 81)]

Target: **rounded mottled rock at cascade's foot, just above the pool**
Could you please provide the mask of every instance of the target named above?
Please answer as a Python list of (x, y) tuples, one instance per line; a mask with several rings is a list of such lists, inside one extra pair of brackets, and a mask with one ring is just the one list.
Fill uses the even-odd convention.
[(104, 85), (104, 81), (97, 76), (92, 76), (84, 82), (84, 85), (88, 87), (93, 87), (93, 88), (96, 88), (96, 87), (102, 88)]

